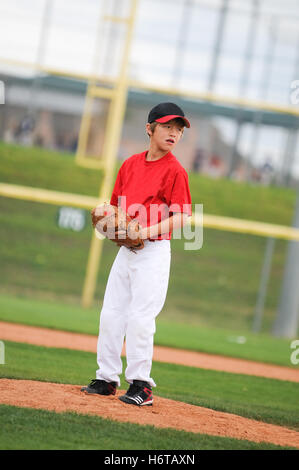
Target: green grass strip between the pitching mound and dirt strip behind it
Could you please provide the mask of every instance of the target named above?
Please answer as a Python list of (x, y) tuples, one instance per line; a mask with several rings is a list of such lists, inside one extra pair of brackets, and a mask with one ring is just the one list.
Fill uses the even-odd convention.
[[(6, 341), (0, 377), (82, 385), (96, 369), (96, 352)], [(152, 377), (156, 395), (299, 429), (297, 383), (159, 362), (153, 363)], [(127, 388), (124, 375), (121, 388)]]

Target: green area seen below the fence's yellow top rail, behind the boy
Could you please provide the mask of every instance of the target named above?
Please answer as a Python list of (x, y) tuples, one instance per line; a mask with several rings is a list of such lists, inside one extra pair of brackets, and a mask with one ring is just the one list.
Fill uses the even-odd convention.
[[(2, 293), (79, 303), (91, 228), (79, 233), (57, 226), (58, 207), (0, 198)], [(86, 212), (87, 221), (89, 215)], [(265, 239), (204, 231), (198, 252), (172, 242), (164, 316), (174, 321), (250, 331)], [(246, 249), (245, 249), (246, 247)], [(278, 241), (265, 305), (263, 331), (270, 331), (279, 299), (286, 243)], [(104, 242), (95, 299), (102, 300), (117, 247)]]

